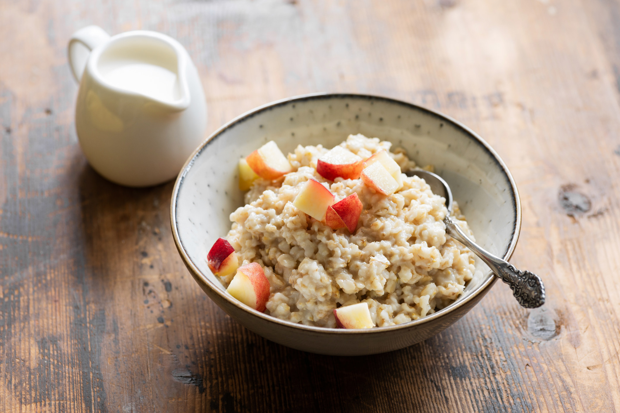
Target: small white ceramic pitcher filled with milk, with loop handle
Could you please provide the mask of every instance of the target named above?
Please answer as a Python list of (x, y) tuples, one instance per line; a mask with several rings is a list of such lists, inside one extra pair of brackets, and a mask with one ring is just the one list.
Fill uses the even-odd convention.
[(192, 59), (173, 38), (135, 31), (74, 33), (69, 64), (79, 82), (76, 129), (92, 167), (127, 186), (179, 173), (206, 129), (205, 95)]

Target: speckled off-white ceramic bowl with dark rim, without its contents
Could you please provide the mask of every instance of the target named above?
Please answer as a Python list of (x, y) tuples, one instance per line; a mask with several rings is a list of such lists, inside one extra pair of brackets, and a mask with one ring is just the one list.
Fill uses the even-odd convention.
[(401, 349), (440, 333), (464, 316), (497, 279), (481, 262), (478, 276), (454, 303), (395, 326), (330, 329), (273, 318), (238, 302), (211, 274), (206, 254), (243, 206), (237, 161), (267, 141), (286, 154), (298, 144), (333, 147), (362, 133), (403, 147), (418, 165), (435, 165), (485, 249), (510, 258), (521, 226), (521, 206), (510, 172), (489, 144), (436, 111), (390, 98), (313, 94), (268, 103), (237, 117), (206, 139), (187, 160), (172, 193), (170, 220), (185, 265), (205, 293), (247, 329), (284, 346), (318, 354), (363, 355)]

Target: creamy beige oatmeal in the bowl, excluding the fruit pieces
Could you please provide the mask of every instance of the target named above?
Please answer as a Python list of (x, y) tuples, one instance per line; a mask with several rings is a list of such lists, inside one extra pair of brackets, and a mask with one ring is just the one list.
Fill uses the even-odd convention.
[[(382, 149), (389, 152), (391, 143), (358, 134), (340, 146), (368, 158)], [(335, 308), (366, 302), (375, 326), (390, 326), (456, 300), (476, 269), (474, 254), (446, 235), (445, 199), (418, 176), (402, 175), (402, 188), (389, 196), (375, 193), (361, 179), (325, 180), (316, 166), (327, 150), (298, 146), (288, 154), (293, 172), (277, 181), (255, 181), (246, 193), (246, 206), (230, 215), (226, 239), (239, 263), (259, 263), (269, 280), (265, 312), (293, 323), (335, 328)], [(389, 155), (403, 172), (416, 166), (404, 150)], [(332, 230), (293, 206), (310, 178), (330, 189), (336, 202), (358, 194), (363, 211), (355, 233)], [(456, 202), (453, 215), (473, 239)], [(231, 279), (221, 278), (224, 285)]]

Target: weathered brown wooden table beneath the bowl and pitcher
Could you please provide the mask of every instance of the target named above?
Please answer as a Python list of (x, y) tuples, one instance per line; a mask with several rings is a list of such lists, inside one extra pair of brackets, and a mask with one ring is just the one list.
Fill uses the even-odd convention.
[[(257, 105), (368, 92), (443, 111), (521, 193), (512, 262), (416, 346), (281, 347), (219, 310), (169, 224), (172, 183), (113, 185), (73, 122), (71, 33), (144, 28), (200, 72), (208, 131)], [(2, 0), (1, 412), (620, 412), (620, 0)]]

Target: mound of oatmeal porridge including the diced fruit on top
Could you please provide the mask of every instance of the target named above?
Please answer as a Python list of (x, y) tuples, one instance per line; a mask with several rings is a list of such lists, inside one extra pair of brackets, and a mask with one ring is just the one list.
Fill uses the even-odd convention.
[[(281, 320), (330, 328), (347, 328), (334, 310), (365, 303), (370, 328), (417, 320), (463, 293), (474, 254), (446, 235), (445, 199), (403, 173), (416, 168), (404, 150), (358, 134), (336, 149), (300, 145), (256, 166), (253, 155), (277, 149), (266, 146), (240, 163), (246, 205), (218, 240), (229, 250), (217, 265), (234, 256), (234, 266), (214, 272), (234, 297)], [(456, 202), (452, 214), (473, 238)], [(244, 288), (237, 266), (250, 285), (237, 295), (249, 301), (234, 293)]]

